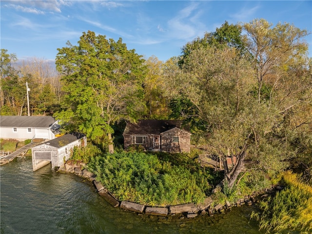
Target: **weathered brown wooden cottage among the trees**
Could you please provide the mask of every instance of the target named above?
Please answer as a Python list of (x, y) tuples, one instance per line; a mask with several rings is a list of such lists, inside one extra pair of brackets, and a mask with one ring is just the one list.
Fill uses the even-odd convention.
[(180, 120), (139, 120), (127, 123), (123, 132), (124, 148), (141, 145), (147, 150), (190, 152), (191, 133)]

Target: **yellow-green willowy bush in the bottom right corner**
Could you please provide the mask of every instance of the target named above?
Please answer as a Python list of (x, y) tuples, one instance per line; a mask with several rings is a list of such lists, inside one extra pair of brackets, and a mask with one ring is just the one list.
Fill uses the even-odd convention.
[(280, 183), (285, 188), (260, 204), (262, 213), (252, 215), (260, 221), (260, 229), (268, 234), (288, 230), (311, 233), (312, 187), (290, 171), (281, 174)]

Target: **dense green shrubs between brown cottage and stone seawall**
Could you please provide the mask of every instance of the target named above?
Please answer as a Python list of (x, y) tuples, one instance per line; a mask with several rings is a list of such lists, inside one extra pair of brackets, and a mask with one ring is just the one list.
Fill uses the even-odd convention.
[(91, 159), (88, 169), (119, 200), (151, 206), (201, 202), (211, 190), (212, 176), (198, 168), (159, 160), (158, 154), (116, 152)]

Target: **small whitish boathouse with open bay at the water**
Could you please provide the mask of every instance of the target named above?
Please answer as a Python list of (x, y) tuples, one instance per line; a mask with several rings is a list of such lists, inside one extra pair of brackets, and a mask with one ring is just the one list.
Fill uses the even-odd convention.
[(38, 170), (51, 162), (52, 169), (60, 167), (71, 155), (75, 146), (84, 147), (87, 138), (81, 133), (72, 133), (44, 142), (31, 149), (33, 170)]

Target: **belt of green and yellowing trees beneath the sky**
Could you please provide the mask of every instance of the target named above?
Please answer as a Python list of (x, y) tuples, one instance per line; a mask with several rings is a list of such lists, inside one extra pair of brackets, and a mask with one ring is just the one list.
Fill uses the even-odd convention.
[(311, 182), (310, 33), (264, 19), (225, 21), (162, 62), (88, 31), (58, 49), (57, 71), (1, 49), (1, 115), (27, 115), (27, 82), (31, 115), (53, 115), (64, 131), (110, 152), (122, 121), (181, 119), (196, 148), (223, 161), (230, 189), (246, 168), (263, 176), (299, 168)]

